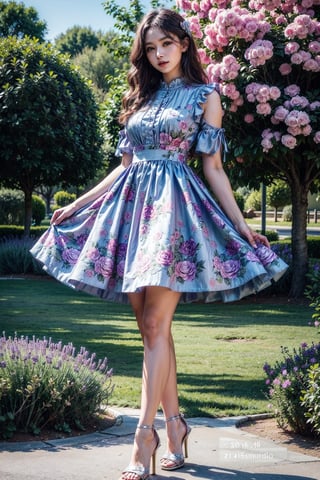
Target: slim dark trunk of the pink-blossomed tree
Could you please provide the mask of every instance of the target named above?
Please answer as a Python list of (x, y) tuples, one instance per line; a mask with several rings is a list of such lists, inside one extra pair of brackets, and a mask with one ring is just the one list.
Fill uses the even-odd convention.
[(290, 298), (303, 296), (308, 271), (307, 208), (308, 188), (299, 182), (291, 186), (292, 193), (292, 282)]

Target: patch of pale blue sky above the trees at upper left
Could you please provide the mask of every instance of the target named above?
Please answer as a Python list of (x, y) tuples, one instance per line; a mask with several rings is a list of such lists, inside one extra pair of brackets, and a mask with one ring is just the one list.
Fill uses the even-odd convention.
[[(113, 18), (107, 16), (103, 0), (22, 0), (26, 7), (34, 7), (40, 20), (47, 23), (46, 38), (54, 40), (74, 25), (92, 27), (106, 32), (113, 28)], [(128, 5), (128, 0), (118, 0), (119, 5)]]

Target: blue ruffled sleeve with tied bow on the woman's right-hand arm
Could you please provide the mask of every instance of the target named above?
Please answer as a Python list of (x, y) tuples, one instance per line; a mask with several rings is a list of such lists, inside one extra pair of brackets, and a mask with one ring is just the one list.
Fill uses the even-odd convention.
[(196, 139), (196, 153), (213, 155), (221, 148), (223, 149), (223, 160), (225, 161), (228, 145), (224, 128), (213, 127), (203, 120)]

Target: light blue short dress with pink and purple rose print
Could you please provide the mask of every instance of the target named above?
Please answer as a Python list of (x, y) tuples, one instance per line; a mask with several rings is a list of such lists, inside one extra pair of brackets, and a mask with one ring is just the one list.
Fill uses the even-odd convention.
[(188, 166), (190, 151), (226, 150), (224, 130), (205, 122), (213, 84), (162, 83), (121, 132), (132, 163), (107, 192), (50, 229), (31, 253), (61, 282), (128, 302), (145, 286), (181, 301), (233, 301), (267, 287), (287, 265), (252, 248)]

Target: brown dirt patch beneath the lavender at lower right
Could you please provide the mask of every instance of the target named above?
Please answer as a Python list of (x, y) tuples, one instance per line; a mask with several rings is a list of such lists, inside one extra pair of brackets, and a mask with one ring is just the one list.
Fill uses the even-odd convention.
[(253, 435), (273, 440), (282, 447), (320, 458), (320, 438), (304, 437), (292, 431), (285, 431), (277, 425), (274, 418), (251, 420), (239, 426)]

